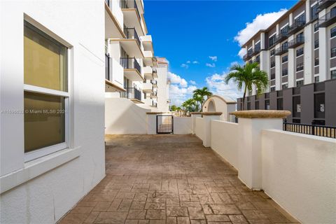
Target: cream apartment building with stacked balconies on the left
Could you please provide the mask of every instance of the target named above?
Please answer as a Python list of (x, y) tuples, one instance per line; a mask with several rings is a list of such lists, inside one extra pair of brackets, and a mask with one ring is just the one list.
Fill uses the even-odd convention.
[[(159, 108), (167, 99), (167, 71), (158, 75), (158, 60), (144, 20), (141, 0), (105, 1), (106, 97), (130, 99), (141, 107)], [(165, 84), (158, 84), (165, 79)], [(141, 105), (142, 104), (142, 105)], [(162, 105), (163, 106), (163, 105)]]

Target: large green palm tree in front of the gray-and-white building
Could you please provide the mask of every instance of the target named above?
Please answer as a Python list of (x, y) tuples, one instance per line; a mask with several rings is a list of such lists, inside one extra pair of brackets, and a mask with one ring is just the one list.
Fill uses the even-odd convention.
[(240, 64), (233, 65), (230, 68), (230, 73), (225, 76), (224, 80), (227, 85), (230, 80), (233, 80), (239, 91), (241, 91), (244, 86), (242, 110), (244, 110), (246, 91), (252, 91), (252, 86), (255, 85), (258, 94), (262, 94), (269, 83), (267, 73), (260, 70), (257, 62), (251, 64), (248, 63), (244, 66), (241, 66)]

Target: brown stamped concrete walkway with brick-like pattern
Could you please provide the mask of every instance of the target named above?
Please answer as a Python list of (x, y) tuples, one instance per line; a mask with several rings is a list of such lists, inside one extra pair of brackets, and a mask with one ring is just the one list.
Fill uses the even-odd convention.
[(295, 223), (192, 135), (106, 138), (106, 178), (60, 223)]

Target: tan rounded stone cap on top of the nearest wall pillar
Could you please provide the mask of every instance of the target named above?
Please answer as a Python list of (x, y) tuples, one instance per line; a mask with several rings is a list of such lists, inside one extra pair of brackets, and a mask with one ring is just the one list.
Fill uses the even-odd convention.
[(237, 118), (287, 118), (290, 116), (290, 111), (276, 111), (276, 110), (251, 110), (251, 111), (235, 111), (231, 115)]

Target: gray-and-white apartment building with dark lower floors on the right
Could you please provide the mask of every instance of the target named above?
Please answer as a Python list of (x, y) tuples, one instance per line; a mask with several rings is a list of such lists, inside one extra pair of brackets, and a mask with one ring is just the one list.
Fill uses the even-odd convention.
[(301, 0), (252, 36), (242, 46), (244, 61), (258, 62), (270, 81), (265, 94), (248, 92), (244, 109), (285, 109), (290, 123), (335, 126), (335, 22), (335, 1)]

